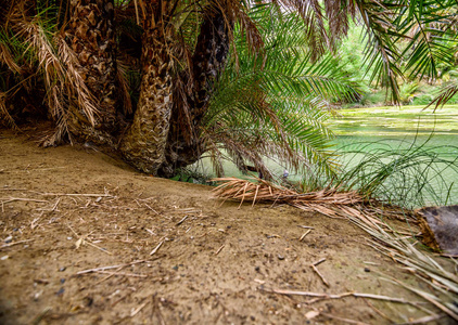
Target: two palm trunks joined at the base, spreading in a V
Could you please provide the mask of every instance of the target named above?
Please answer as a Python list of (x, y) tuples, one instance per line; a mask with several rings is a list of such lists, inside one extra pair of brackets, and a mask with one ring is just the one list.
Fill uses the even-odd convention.
[[(174, 4), (178, 6), (178, 2)], [(176, 10), (181, 10), (177, 6)], [(164, 2), (162, 10), (151, 10), (156, 15), (151, 14), (155, 31), (150, 35), (145, 29), (142, 54), (143, 68), (151, 74), (143, 72), (139, 107), (120, 146), (124, 156), (137, 168), (162, 176), (171, 176), (176, 167), (192, 164), (200, 157), (196, 132), (208, 106), (212, 83), (226, 63), (231, 25), (225, 22), (225, 14), (216, 3), (206, 4), (189, 68), (174, 77), (171, 8), (171, 2)], [(144, 21), (149, 22), (150, 17)], [(157, 35), (162, 31), (168, 36)], [(183, 95), (178, 101), (173, 100), (179, 96), (178, 91), (174, 94), (173, 81), (191, 84), (189, 90), (181, 89)], [(179, 120), (182, 104), (187, 123)]]

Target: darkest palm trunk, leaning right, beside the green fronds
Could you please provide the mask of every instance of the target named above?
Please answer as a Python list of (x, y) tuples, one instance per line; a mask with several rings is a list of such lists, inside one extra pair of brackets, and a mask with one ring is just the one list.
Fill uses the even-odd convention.
[(195, 162), (205, 151), (200, 128), (208, 109), (214, 83), (226, 66), (230, 41), (228, 21), (216, 5), (208, 5), (192, 56), (192, 76), (182, 76), (191, 78), (193, 88), (187, 95), (187, 105), (176, 103), (174, 106), (166, 161), (161, 167), (161, 176), (173, 176), (175, 169)]

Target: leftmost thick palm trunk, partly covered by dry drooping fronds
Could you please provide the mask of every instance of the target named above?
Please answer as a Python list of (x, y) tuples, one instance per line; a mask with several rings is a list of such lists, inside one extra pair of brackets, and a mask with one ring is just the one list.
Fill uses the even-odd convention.
[(76, 68), (93, 95), (93, 125), (78, 105), (71, 108), (71, 131), (84, 140), (112, 143), (117, 127), (116, 58), (113, 0), (72, 0), (67, 43), (78, 58)]

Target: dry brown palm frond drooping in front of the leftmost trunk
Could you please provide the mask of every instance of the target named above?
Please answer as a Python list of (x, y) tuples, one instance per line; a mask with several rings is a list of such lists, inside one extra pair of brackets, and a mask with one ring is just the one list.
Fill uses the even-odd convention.
[[(68, 134), (69, 103), (76, 102), (88, 122), (93, 125), (98, 113), (94, 104), (97, 101), (81, 78), (78, 60), (65, 42), (64, 35), (58, 29), (55, 15), (50, 14), (59, 10), (47, 5), (34, 16), (28, 16), (24, 10), (22, 6), (13, 9), (9, 18), (9, 30), (14, 31), (12, 43), (15, 44), (15, 51), (22, 51), (16, 55), (22, 61), (27, 60), (24, 64), (27, 64), (31, 72), (36, 72), (31, 77), (41, 79), (44, 83), (44, 101), (50, 116), (56, 123), (56, 130), (51, 136), (53, 140), (50, 138), (43, 143), (54, 145)], [(17, 70), (14, 66), (10, 68)], [(20, 82), (16, 88), (25, 84)]]

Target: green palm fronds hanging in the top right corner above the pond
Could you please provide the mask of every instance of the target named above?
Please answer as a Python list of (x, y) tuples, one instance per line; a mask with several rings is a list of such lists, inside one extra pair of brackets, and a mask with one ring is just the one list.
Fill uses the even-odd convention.
[(371, 79), (390, 87), (394, 102), (400, 100), (399, 78), (435, 79), (437, 66), (454, 61), (455, 0), (357, 2), (367, 27), (366, 57), (373, 68)]

